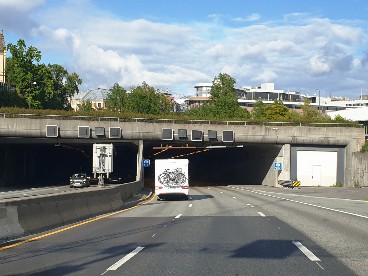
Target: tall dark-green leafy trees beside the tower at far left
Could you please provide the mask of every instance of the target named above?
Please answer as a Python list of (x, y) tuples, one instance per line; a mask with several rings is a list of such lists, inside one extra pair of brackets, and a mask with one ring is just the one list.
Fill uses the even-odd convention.
[(18, 40), (17, 45), (9, 43), (7, 48), (12, 55), (6, 61), (7, 77), (11, 86), (24, 91), (26, 103), (38, 109), (70, 109), (68, 97), (82, 84), (78, 74), (69, 74), (59, 64), (40, 63), (41, 52), (32, 45), (27, 47), (23, 39)]

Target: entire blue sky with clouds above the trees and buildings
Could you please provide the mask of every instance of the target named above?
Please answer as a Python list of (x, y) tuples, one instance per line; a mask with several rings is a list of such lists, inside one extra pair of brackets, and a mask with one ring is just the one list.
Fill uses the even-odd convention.
[(145, 81), (194, 95), (221, 72), (240, 87), (368, 95), (367, 0), (0, 0), (0, 10), (7, 44), (25, 39), (43, 63), (77, 72), (82, 91)]

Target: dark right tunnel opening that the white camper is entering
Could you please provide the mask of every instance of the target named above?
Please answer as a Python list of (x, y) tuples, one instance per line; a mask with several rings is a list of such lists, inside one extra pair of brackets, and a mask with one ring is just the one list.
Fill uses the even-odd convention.
[[(199, 182), (261, 185), (282, 148), (282, 145), (245, 144), (243, 147), (232, 148), (204, 148), (203, 145), (197, 145), (197, 148), (188, 149), (152, 149), (160, 145), (145, 144), (144, 157), (150, 159), (150, 167), (144, 169), (145, 180), (153, 183), (155, 159), (188, 159), (190, 185)], [(183, 143), (170, 145), (186, 146)]]

